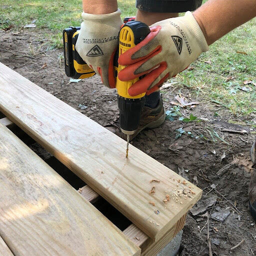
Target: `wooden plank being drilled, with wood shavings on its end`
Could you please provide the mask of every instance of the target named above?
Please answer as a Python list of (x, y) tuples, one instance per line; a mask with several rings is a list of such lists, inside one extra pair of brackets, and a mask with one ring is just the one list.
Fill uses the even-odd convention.
[[(152, 239), (162, 237), (201, 189), (15, 71), (0, 64), (0, 110)], [(171, 177), (171, 178), (169, 178)], [(159, 183), (149, 183), (151, 179)], [(178, 182), (179, 180), (179, 182)], [(155, 193), (149, 194), (155, 185)], [(191, 187), (191, 197), (170, 200)], [(172, 197), (174, 199), (172, 199)], [(153, 201), (155, 206), (149, 203)], [(156, 212), (159, 211), (159, 214)]]

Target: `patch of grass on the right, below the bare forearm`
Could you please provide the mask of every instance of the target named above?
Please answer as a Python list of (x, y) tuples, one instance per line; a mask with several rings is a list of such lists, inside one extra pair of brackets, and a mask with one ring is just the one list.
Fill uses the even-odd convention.
[[(234, 29), (210, 46), (191, 66), (177, 75), (178, 87), (188, 87), (201, 100), (225, 107), (236, 116), (256, 116), (256, 19)], [(237, 51), (245, 52), (237, 53)], [(207, 61), (207, 62), (205, 62)], [(210, 62), (209, 62), (210, 61)], [(173, 79), (172, 79), (173, 80)], [(250, 91), (243, 91), (242, 87)]]

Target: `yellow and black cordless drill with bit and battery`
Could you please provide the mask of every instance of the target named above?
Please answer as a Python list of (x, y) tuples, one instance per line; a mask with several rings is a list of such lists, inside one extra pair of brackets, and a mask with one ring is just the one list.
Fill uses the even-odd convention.
[[(131, 21), (127, 21), (131, 20)], [(78, 37), (80, 27), (68, 27), (63, 30), (64, 62), (65, 73), (73, 78), (87, 78), (95, 74), (79, 56), (75, 50), (75, 43)], [(145, 93), (130, 96), (129, 87), (139, 78), (130, 81), (121, 81), (117, 74), (125, 66), (118, 65), (117, 59), (120, 54), (134, 47), (142, 41), (150, 32), (149, 27), (139, 21), (134, 21), (134, 17), (124, 18), (124, 25), (119, 32), (119, 48), (115, 54), (115, 77), (116, 89), (118, 94), (119, 122), (121, 131), (127, 135), (126, 157), (128, 157), (129, 135), (135, 133), (139, 125), (140, 113), (144, 106)]]

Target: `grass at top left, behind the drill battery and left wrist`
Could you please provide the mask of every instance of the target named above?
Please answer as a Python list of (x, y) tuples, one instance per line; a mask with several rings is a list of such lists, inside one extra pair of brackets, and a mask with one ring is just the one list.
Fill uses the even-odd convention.
[[(136, 13), (135, 0), (118, 0), (118, 6), (122, 10), (122, 18)], [(81, 12), (81, 0), (5, 0), (0, 3), (0, 29), (12, 26), (13, 30), (18, 30), (36, 19), (37, 28), (31, 31), (49, 29), (45, 37), (53, 46), (61, 48), (62, 30), (69, 25), (79, 26)]]

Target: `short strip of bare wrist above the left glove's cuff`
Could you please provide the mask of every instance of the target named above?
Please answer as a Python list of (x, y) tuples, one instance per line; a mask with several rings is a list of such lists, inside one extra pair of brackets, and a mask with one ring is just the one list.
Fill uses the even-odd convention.
[(111, 13), (117, 10), (117, 0), (82, 0), (82, 9), (91, 14)]

